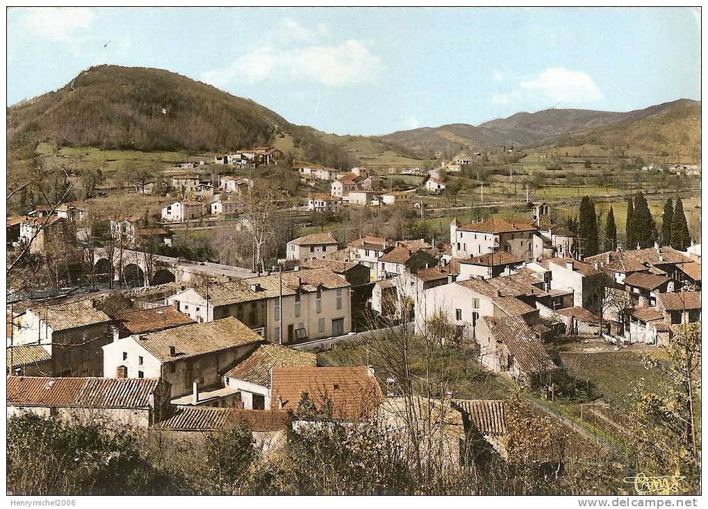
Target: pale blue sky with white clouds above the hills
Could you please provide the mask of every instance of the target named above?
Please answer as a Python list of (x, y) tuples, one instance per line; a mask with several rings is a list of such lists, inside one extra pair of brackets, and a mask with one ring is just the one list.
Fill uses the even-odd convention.
[(7, 101), (158, 67), (340, 135), (700, 99), (694, 8), (11, 8)]

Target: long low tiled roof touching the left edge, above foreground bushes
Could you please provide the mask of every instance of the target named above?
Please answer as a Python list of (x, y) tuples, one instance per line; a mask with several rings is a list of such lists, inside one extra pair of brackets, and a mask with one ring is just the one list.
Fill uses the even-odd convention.
[(150, 408), (156, 378), (7, 377), (8, 406)]

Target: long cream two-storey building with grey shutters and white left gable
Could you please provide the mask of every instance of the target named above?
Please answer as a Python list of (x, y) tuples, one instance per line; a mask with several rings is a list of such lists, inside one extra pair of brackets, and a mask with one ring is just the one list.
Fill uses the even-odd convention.
[(218, 285), (188, 288), (167, 297), (195, 321), (236, 316), (263, 337), (280, 343), (304, 338), (342, 336), (351, 331), (350, 284), (331, 270), (318, 268), (274, 273)]

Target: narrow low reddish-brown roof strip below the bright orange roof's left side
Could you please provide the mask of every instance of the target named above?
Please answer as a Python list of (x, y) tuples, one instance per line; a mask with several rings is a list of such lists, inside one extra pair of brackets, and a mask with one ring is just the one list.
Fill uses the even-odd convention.
[(244, 425), (251, 431), (277, 431), (287, 429), (289, 424), (285, 410), (190, 406), (178, 408), (154, 427), (171, 431), (216, 431)]

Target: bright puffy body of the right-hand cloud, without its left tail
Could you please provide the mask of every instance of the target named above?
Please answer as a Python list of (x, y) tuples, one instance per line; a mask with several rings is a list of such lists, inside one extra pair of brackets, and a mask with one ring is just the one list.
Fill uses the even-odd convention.
[(563, 67), (546, 69), (533, 79), (521, 81), (520, 86), (526, 91), (541, 93), (558, 103), (591, 103), (603, 97), (588, 74), (569, 71)]

